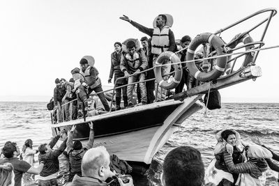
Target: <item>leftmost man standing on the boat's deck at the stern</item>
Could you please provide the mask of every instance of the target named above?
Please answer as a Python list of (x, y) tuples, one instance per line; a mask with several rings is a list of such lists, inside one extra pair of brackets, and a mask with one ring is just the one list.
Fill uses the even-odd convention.
[(62, 98), (63, 96), (66, 94), (66, 88), (65, 86), (61, 85), (61, 82), (58, 78), (55, 79), (55, 84), (56, 87), (54, 88), (54, 111), (58, 111), (58, 118), (59, 118), (59, 122), (62, 122)]

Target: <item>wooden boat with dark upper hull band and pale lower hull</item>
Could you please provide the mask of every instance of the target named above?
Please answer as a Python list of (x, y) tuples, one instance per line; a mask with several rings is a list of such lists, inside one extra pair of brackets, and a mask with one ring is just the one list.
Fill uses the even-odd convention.
[[(144, 104), (138, 107), (121, 109), (119, 111), (110, 111), (98, 116), (87, 116), (86, 118), (80, 118), (74, 121), (52, 123), (53, 136), (56, 136), (61, 130), (68, 131), (73, 125), (76, 125), (74, 140), (87, 141), (89, 138), (88, 123), (92, 121), (95, 131), (94, 146), (105, 146), (110, 154), (116, 154), (120, 159), (128, 162), (150, 164), (153, 156), (165, 144), (169, 137), (181, 127), (181, 124), (187, 122), (186, 119), (195, 114), (195, 112), (206, 107), (207, 103), (204, 104), (201, 101), (203, 95), (221, 88), (226, 88), (227, 86), (245, 82), (249, 79), (255, 80), (262, 75), (261, 68), (255, 65), (255, 61), (261, 50), (272, 48), (263, 48), (262, 46), (264, 45), (264, 36), (271, 22), (271, 18), (277, 13), (275, 8), (259, 10), (213, 33), (214, 37), (220, 38), (220, 34), (224, 31), (262, 13), (269, 13), (269, 16), (252, 27), (252, 29), (244, 31), (232, 41), (224, 44), (224, 51), (222, 54), (212, 51), (202, 59), (202, 61), (211, 63), (211, 71), (214, 70), (214, 61), (225, 59), (225, 72), (218, 75), (217, 78), (206, 79), (206, 81), (202, 82), (199, 86), (178, 93), (165, 101)], [(246, 41), (246, 39), (244, 39), (247, 38), (246, 36), (249, 36), (251, 31), (257, 29), (257, 27), (262, 24), (266, 25), (261, 40), (252, 41), (252, 39), (250, 39)], [(192, 42), (195, 41), (197, 40), (194, 39)], [(193, 46), (191, 45), (192, 42), (190, 46)], [(236, 46), (241, 42), (243, 45)], [(204, 45), (204, 47), (206, 47), (206, 45)], [(237, 49), (243, 48), (245, 48), (246, 51), (236, 52)], [(239, 61), (241, 57), (245, 59), (242, 61), (241, 67), (235, 70), (234, 64), (236, 61)], [(196, 61), (195, 59), (179, 61), (179, 63), (173, 62), (172, 65), (181, 65), (181, 63), (195, 64)], [(160, 67), (161, 65), (157, 65), (155, 68)], [(153, 70), (153, 68), (149, 70)], [(144, 72), (145, 71), (147, 70), (144, 70)], [(190, 73), (193, 74), (193, 76), (197, 74), (197, 72), (193, 72), (193, 70), (190, 70)], [(152, 79), (146, 79), (145, 81), (149, 80)], [(113, 88), (113, 93), (114, 90), (115, 87)]]

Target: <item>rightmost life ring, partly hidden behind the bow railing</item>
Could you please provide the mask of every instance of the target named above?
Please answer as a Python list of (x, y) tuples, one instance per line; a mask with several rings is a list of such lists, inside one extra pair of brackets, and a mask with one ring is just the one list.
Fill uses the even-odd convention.
[[(249, 34), (244, 35), (241, 39), (236, 40), (236, 42), (233, 42), (232, 45), (229, 45), (228, 47), (230, 48), (235, 48), (236, 45), (239, 45), (239, 43), (243, 43), (244, 45), (250, 43), (250, 42), (254, 42), (254, 40), (252, 40), (251, 36)], [(255, 45), (248, 45), (247, 47), (245, 47), (246, 51), (254, 48)], [(255, 56), (255, 52), (250, 52), (247, 53), (243, 62), (243, 67), (246, 67), (249, 63), (252, 63), (254, 61), (254, 56)]]

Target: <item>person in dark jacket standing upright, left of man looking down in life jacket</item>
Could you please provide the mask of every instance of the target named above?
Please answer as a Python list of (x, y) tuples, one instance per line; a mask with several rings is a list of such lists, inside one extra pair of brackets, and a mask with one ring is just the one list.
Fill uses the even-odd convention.
[[(110, 77), (108, 80), (108, 83), (110, 84), (112, 82), (112, 77), (114, 74), (114, 84), (115, 87), (118, 86), (123, 86), (125, 84), (127, 84), (127, 80), (126, 79), (119, 79), (116, 82), (116, 79), (118, 79), (119, 77), (124, 77), (124, 73), (120, 70), (120, 61), (121, 61), (121, 49), (122, 45), (120, 42), (115, 42), (114, 43), (114, 52), (112, 52), (112, 63), (111, 63), (111, 67), (110, 67)], [(127, 107), (128, 105), (128, 97), (127, 97), (127, 86), (124, 86), (122, 88), (116, 88), (116, 96), (115, 96), (115, 100), (116, 100), (116, 110), (120, 110), (120, 102), (121, 102), (121, 90), (122, 90), (122, 94), (123, 94), (123, 101), (124, 101), (124, 107)]]

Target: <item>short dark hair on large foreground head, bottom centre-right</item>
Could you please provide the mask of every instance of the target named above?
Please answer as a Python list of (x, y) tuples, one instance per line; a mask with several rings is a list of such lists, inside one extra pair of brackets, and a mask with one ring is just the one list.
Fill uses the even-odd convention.
[(199, 150), (180, 146), (171, 150), (163, 164), (166, 186), (200, 186), (204, 182), (204, 163)]

